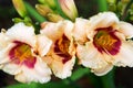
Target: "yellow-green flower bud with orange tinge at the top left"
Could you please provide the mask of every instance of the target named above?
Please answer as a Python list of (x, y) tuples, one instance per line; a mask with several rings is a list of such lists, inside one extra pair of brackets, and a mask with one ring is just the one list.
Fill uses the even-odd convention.
[(27, 16), (28, 13), (27, 13), (23, 0), (12, 0), (12, 2), (13, 2), (13, 6), (14, 6), (16, 10), (18, 11), (18, 13), (22, 18)]

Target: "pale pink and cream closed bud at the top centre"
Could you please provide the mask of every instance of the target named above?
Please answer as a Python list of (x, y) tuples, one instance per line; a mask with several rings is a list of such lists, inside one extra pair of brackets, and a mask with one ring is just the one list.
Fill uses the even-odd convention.
[(72, 21), (78, 18), (78, 10), (73, 0), (59, 0), (62, 11), (69, 16)]

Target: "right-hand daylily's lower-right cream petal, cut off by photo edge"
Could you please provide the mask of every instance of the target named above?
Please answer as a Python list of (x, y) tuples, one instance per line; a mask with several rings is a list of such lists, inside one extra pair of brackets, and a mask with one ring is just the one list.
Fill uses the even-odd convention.
[(133, 67), (133, 44), (130, 42), (122, 42), (119, 54), (112, 56), (115, 66)]

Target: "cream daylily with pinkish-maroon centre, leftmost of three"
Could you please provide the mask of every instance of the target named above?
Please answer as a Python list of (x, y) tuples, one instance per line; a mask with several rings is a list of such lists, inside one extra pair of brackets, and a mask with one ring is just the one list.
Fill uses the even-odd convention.
[(47, 82), (51, 70), (41, 57), (51, 44), (44, 35), (35, 35), (32, 26), (14, 24), (0, 33), (0, 68), (21, 82)]

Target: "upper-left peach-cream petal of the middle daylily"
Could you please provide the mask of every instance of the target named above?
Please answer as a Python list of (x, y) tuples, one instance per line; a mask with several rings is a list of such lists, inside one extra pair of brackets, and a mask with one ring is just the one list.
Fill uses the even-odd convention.
[(64, 32), (64, 29), (62, 29), (62, 21), (58, 23), (53, 22), (44, 22), (43, 23), (43, 29), (41, 30), (41, 34), (47, 35), (49, 38), (57, 41), (60, 38)]

